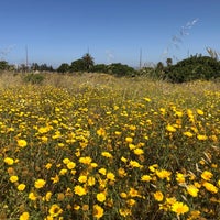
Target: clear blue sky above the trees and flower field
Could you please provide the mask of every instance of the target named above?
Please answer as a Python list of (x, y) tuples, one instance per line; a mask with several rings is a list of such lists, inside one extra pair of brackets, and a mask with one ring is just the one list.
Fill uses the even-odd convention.
[(142, 64), (220, 51), (219, 0), (1, 0), (0, 59)]

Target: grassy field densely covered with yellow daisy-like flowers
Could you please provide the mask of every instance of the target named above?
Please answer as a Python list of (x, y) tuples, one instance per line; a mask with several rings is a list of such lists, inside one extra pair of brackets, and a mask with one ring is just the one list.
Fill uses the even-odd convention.
[(219, 84), (56, 77), (1, 84), (1, 220), (220, 219)]

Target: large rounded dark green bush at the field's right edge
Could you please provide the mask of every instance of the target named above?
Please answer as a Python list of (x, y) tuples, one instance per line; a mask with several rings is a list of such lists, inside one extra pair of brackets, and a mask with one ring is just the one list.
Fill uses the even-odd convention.
[(220, 77), (220, 62), (209, 56), (195, 55), (165, 67), (164, 72), (163, 78), (172, 82), (210, 80)]

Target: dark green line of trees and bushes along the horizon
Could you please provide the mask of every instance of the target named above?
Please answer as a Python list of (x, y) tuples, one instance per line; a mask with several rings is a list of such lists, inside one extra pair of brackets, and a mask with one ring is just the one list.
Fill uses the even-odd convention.
[(38, 65), (33, 63), (30, 67), (21, 65), (15, 68), (6, 61), (0, 61), (0, 70), (22, 70), (22, 72), (58, 72), (61, 74), (75, 73), (106, 73), (114, 76), (147, 76), (154, 79), (166, 80), (170, 82), (185, 82), (197, 79), (216, 80), (220, 79), (220, 61), (218, 56), (202, 56), (201, 54), (173, 64), (172, 58), (166, 59), (166, 64), (158, 62), (153, 67), (143, 67), (134, 69), (125, 64), (95, 64), (94, 57), (87, 53), (81, 58), (70, 64), (63, 63), (57, 69), (46, 64)]

